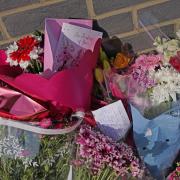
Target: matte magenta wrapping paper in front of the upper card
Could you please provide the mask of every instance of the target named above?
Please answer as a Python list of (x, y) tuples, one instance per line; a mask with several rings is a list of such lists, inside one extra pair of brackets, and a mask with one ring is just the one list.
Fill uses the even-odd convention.
[(50, 103), (56, 108), (66, 106), (73, 110), (88, 110), (93, 85), (92, 71), (96, 65), (99, 48), (100, 40), (97, 41), (94, 52), (88, 50), (85, 53), (78, 67), (57, 72), (49, 79), (31, 73), (15, 74), (12, 77), (11, 70), (1, 72), (1, 66), (0, 80), (29, 97)]

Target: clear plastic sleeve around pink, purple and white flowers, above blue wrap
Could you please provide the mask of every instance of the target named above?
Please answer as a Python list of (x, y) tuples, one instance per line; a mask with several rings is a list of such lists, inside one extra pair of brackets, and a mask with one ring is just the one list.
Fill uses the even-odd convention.
[[(152, 14), (145, 13), (139, 25), (144, 30), (141, 40), (130, 40), (138, 50), (134, 64), (124, 74), (113, 75), (113, 83), (141, 114), (153, 119), (179, 104), (180, 37), (179, 31), (158, 24)], [(142, 51), (141, 41), (151, 48)]]

